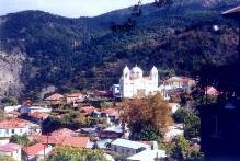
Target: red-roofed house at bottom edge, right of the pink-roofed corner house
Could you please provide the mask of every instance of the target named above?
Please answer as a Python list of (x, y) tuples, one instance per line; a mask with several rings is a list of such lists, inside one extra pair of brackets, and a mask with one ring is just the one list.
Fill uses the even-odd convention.
[(24, 148), (26, 154), (26, 160), (36, 161), (42, 160), (47, 157), (53, 150), (50, 145), (36, 143), (30, 147)]

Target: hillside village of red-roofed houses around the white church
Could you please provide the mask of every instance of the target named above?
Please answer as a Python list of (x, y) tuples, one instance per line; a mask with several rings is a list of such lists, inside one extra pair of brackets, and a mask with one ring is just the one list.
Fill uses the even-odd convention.
[[(198, 157), (199, 119), (196, 119), (197, 123), (193, 122), (193, 125), (192, 122), (188, 123), (191, 119), (185, 119), (187, 115), (194, 114), (194, 102), (190, 97), (196, 89), (197, 82), (193, 78), (174, 76), (159, 80), (156, 67), (146, 76), (139, 67), (129, 69), (126, 66), (118, 84), (113, 84), (110, 90), (95, 89), (84, 93), (53, 92), (47, 93), (39, 102), (24, 100), (18, 104), (5, 103), (1, 106), (0, 154), (16, 161), (47, 160), (55, 149), (70, 146), (99, 149), (103, 158), (110, 161), (155, 161), (167, 160), (176, 154), (171, 151), (174, 148), (169, 150), (165, 145), (174, 142), (178, 149), (181, 148), (178, 147), (181, 145), (176, 142), (179, 140), (188, 145), (188, 149), (185, 149), (188, 156)], [(214, 87), (205, 89), (203, 94), (212, 99), (219, 94)], [(157, 99), (157, 102), (152, 97)], [(165, 124), (161, 137), (160, 133), (156, 133), (155, 136), (155, 131), (149, 129), (136, 137), (133, 135), (133, 126), (128, 126), (138, 117), (138, 112), (144, 111), (140, 102), (145, 103), (148, 100), (152, 100), (150, 104), (156, 107), (160, 101), (160, 106), (171, 113), (172, 122)], [(135, 106), (138, 102), (139, 107)], [(127, 113), (126, 106), (135, 112)], [(128, 116), (129, 114), (132, 115)], [(157, 117), (167, 115), (168, 113), (164, 113)], [(127, 119), (128, 117), (133, 120)], [(145, 124), (141, 118), (137, 119), (139, 122), (134, 123)], [(149, 119), (160, 122), (158, 118)]]

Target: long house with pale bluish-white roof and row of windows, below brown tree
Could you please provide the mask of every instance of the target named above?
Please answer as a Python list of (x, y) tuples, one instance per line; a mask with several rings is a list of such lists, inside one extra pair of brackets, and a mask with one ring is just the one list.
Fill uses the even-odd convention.
[(130, 140), (119, 139), (119, 138), (114, 140), (111, 143), (111, 151), (117, 152), (125, 157), (136, 154), (146, 149), (150, 150), (151, 146), (147, 143), (142, 143), (142, 142), (130, 141)]

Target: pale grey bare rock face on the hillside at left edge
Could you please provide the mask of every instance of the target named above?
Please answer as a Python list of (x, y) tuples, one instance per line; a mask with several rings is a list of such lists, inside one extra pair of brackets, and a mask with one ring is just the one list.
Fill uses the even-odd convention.
[(25, 55), (15, 49), (11, 54), (0, 51), (0, 99), (19, 96), (24, 88), (21, 71)]

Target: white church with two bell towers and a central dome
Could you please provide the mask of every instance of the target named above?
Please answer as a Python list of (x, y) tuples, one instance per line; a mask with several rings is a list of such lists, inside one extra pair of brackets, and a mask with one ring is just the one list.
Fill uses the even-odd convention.
[(158, 91), (158, 69), (152, 67), (150, 76), (144, 77), (144, 71), (139, 67), (129, 69), (126, 66), (119, 84), (114, 84), (112, 91), (116, 97), (128, 99), (156, 94)]

